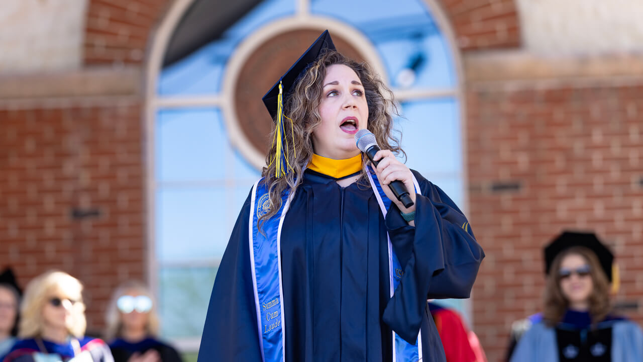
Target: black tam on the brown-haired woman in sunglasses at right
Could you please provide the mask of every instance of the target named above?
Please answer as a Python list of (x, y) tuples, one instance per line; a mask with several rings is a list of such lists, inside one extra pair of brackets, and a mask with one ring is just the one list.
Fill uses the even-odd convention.
[(565, 231), (552, 240), (545, 247), (545, 274), (549, 274), (552, 263), (558, 254), (570, 247), (581, 246), (590, 249), (596, 254), (601, 267), (605, 272), (608, 280), (612, 281), (612, 263), (614, 254), (606, 247), (594, 233), (575, 233)]

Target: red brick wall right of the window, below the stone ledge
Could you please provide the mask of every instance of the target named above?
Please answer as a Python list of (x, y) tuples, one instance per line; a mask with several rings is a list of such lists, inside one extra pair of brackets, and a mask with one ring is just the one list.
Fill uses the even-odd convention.
[(618, 301), (643, 297), (643, 82), (536, 83), (467, 91), (469, 216), (487, 254), (473, 319), (489, 361), (512, 321), (542, 310), (541, 247), (565, 228), (615, 251)]

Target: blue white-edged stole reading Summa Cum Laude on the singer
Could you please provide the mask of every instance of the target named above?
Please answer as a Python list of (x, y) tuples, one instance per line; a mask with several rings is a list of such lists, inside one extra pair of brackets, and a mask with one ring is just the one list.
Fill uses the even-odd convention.
[[(391, 200), (386, 197), (377, 176), (370, 167), (368, 180), (375, 193), (377, 202), (386, 218), (386, 211)], [(372, 173), (372, 174), (371, 174)], [(249, 215), (249, 247), (252, 281), (255, 292), (255, 306), (257, 308), (257, 327), (259, 330), (259, 345), (263, 362), (285, 362), (284, 343), (284, 303), (282, 296), (281, 272), (281, 229), (284, 225), (285, 214), (288, 212), (290, 202), (294, 195), (289, 195), (286, 190), (282, 195), (282, 205), (268, 220), (263, 221), (260, 233), (257, 222), (259, 218), (270, 209), (270, 199), (266, 183), (261, 178), (252, 189), (252, 200)], [(419, 184), (413, 176), (416, 191), (420, 190)], [(390, 296), (401, 280), (404, 269), (399, 265), (393, 250), (391, 240), (388, 239), (388, 275), (390, 278)], [(392, 332), (393, 362), (421, 361), (422, 343), (421, 334), (417, 336), (417, 343), (411, 345)]]

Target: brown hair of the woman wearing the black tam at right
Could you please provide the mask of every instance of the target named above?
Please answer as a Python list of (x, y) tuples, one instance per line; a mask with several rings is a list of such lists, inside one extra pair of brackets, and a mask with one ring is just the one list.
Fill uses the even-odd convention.
[(554, 258), (545, 283), (545, 310), (543, 311), (543, 319), (545, 319), (550, 327), (553, 327), (563, 319), (563, 315), (569, 307), (569, 301), (565, 298), (561, 290), (557, 271), (560, 269), (565, 256), (571, 254), (582, 256), (588, 265), (590, 265), (590, 276), (592, 276), (593, 283), (592, 294), (590, 294), (589, 297), (592, 323), (602, 321), (611, 309), (610, 282), (606, 274), (602, 271), (598, 257), (586, 247), (570, 247)]

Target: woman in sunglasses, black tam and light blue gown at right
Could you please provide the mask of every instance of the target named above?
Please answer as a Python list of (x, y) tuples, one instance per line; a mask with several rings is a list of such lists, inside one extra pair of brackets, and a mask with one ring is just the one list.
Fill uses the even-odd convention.
[(511, 362), (643, 361), (643, 333), (611, 314), (613, 254), (593, 233), (565, 232), (545, 248), (545, 309)]

